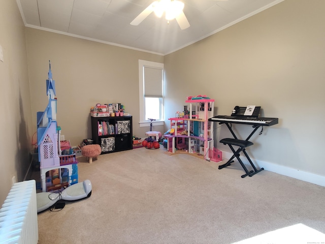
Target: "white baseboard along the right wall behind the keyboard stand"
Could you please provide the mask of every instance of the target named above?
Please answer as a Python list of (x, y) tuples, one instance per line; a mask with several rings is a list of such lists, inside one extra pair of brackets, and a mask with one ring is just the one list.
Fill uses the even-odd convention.
[[(232, 153), (229, 153), (228, 151), (222, 151), (222, 162), (225, 163), (228, 159), (230, 159), (233, 156)], [(248, 160), (245, 157), (240, 157), (240, 159), (243, 161), (245, 165), (249, 165)], [(255, 160), (251, 159), (253, 163), (255, 164), (256, 168), (264, 168), (265, 170), (285, 175), (291, 178), (303, 180), (306, 182), (310, 182), (312, 184), (325, 187), (325, 176), (324, 175), (318, 175), (313, 174), (310, 172), (302, 171), (299, 169), (294, 169), (290, 167), (286, 167), (283, 165), (274, 164), (271, 162), (265, 162), (261, 160)], [(237, 161), (237, 160), (236, 160)], [(219, 162), (220, 164), (221, 162)], [(222, 164), (222, 163), (221, 163)]]

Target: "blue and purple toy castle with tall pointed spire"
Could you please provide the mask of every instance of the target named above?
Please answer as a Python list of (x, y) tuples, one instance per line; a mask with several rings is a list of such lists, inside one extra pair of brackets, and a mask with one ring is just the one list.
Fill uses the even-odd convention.
[[(43, 192), (58, 190), (78, 182), (76, 155), (61, 156), (60, 128), (57, 127), (56, 122), (55, 81), (52, 79), (51, 63), (49, 63), (49, 67), (46, 80), (48, 104), (43, 112), (37, 112), (37, 145)], [(72, 182), (73, 169), (77, 178), (74, 177)]]

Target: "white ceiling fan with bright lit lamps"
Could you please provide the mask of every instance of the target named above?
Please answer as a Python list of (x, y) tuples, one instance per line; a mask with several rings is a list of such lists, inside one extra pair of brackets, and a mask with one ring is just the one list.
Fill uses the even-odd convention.
[[(212, 0), (212, 1), (228, 1), (228, 0)], [(143, 10), (130, 24), (139, 25), (145, 18), (152, 12), (157, 17), (165, 17), (169, 23), (169, 20), (176, 19), (181, 29), (186, 29), (190, 26), (184, 12), (184, 3), (179, 0), (158, 0), (150, 4), (145, 10)]]

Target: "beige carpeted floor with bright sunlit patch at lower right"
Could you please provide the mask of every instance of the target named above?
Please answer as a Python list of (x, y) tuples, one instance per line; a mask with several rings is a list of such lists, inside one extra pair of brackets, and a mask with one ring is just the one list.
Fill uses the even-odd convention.
[(39, 243), (325, 242), (323, 187), (164, 150), (79, 157), (92, 195), (41, 212)]

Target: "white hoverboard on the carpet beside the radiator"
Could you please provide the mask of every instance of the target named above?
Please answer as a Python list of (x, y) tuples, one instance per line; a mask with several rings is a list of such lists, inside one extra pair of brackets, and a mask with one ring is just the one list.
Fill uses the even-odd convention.
[(90, 197), (91, 182), (86, 179), (83, 182), (72, 185), (62, 191), (40, 192), (36, 194), (37, 212), (44, 211), (53, 206), (59, 200), (75, 201)]

